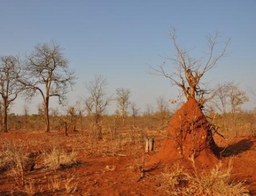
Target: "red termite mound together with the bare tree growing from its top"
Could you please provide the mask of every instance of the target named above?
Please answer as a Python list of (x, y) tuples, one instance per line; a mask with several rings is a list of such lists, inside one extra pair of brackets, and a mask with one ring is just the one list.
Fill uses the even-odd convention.
[(154, 162), (182, 157), (191, 160), (194, 165), (195, 159), (200, 163), (211, 163), (213, 162), (211, 157), (220, 157), (219, 148), (213, 139), (212, 126), (201, 109), (205, 101), (211, 98), (211, 96), (205, 97), (210, 92), (203, 89), (200, 83), (203, 75), (214, 68), (220, 58), (226, 55), (229, 40), (225, 42), (222, 51), (216, 54), (218, 37), (217, 33), (214, 37), (208, 36), (209, 52), (206, 53), (208, 56), (196, 59), (191, 57), (187, 50), (181, 48), (176, 39), (176, 31), (172, 29), (171, 40), (176, 55), (169, 59), (173, 62), (176, 72), (168, 74), (165, 71), (165, 63), (158, 69), (153, 69), (158, 75), (168, 78), (172, 85), (180, 87), (187, 98), (187, 103), (184, 103), (171, 119), (168, 137)]

